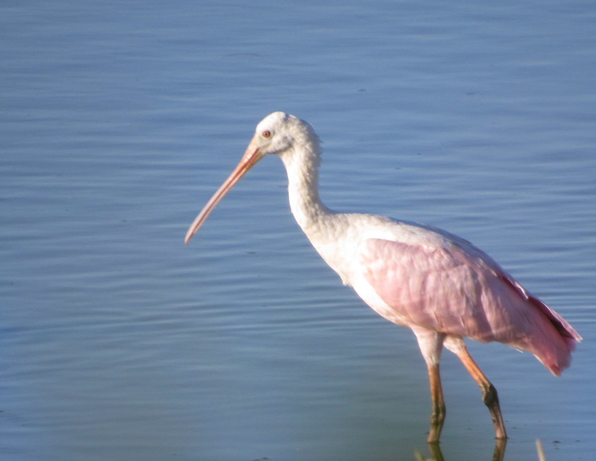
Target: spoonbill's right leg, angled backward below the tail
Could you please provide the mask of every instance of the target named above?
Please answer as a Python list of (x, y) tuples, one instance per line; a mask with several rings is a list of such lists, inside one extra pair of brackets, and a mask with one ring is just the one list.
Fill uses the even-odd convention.
[(453, 337), (449, 337), (447, 341), (445, 341), (445, 347), (459, 357), (461, 363), (463, 363), (465, 368), (468, 370), (468, 373), (470, 373), (472, 378), (474, 378), (476, 384), (479, 385), (480, 390), (482, 391), (482, 400), (488, 407), (489, 412), (491, 412), (492, 423), (495, 426), (496, 438), (507, 438), (505, 424), (503, 423), (503, 417), (501, 416), (501, 407), (499, 407), (499, 397), (496, 394), (496, 389), (488, 380), (488, 378), (486, 378), (478, 365), (476, 365), (476, 362), (474, 362), (470, 356), (470, 353), (468, 353), (463, 339), (457, 338), (454, 340)]

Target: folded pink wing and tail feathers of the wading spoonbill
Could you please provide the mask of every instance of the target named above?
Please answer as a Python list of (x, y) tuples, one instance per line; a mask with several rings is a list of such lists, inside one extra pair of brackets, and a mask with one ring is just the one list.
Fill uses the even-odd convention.
[(469, 242), (368, 239), (360, 257), (367, 281), (411, 325), (528, 350), (557, 376), (570, 365), (578, 333)]

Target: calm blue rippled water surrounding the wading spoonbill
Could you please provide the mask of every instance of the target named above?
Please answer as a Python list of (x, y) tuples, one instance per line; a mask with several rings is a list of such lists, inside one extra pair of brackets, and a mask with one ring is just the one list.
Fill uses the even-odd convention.
[[(274, 110), (325, 142), (322, 197), (449, 229), (583, 335), (553, 378), (471, 344), (505, 459), (596, 453), (596, 7), (468, 0), (0, 4), (0, 458), (414, 460), (411, 332), (294, 223), (281, 162), (187, 226)], [(489, 460), (445, 353), (446, 460)]]

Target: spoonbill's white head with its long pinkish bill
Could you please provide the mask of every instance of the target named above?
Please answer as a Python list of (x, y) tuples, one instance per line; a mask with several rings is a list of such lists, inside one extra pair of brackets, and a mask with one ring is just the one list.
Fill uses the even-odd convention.
[[(228, 179), (213, 194), (213, 197), (203, 207), (203, 210), (197, 215), (188, 228), (184, 239), (188, 245), (191, 237), (198, 228), (201, 227), (209, 213), (215, 208), (215, 205), (224, 197), (226, 192), (231, 189), (235, 183), (240, 180), (244, 173), (250, 170), (261, 158), (269, 154), (277, 154), (284, 161), (295, 151), (296, 146), (316, 145), (318, 150), (318, 138), (311, 125), (290, 114), (283, 112), (274, 112), (266, 116), (257, 124), (254, 136), (250, 140), (249, 147), (240, 159), (240, 163), (232, 171)], [(284, 158), (285, 157), (285, 158)]]

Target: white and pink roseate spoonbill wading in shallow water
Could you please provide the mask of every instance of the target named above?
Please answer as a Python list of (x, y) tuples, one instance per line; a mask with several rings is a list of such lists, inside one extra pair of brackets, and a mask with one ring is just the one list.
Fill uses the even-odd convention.
[(291, 213), (319, 255), (375, 312), (414, 332), (429, 373), (427, 442), (439, 443), (445, 421), (439, 373), (443, 347), (479, 385), (495, 438), (507, 439), (496, 389), (464, 338), (529, 351), (560, 376), (581, 336), (467, 240), (429, 225), (326, 207), (318, 190), (321, 141), (311, 124), (284, 112), (259, 122), (240, 163), (188, 228), (185, 244), (226, 192), (271, 154), (285, 166)]

